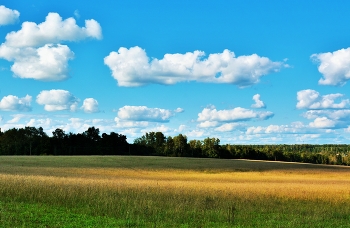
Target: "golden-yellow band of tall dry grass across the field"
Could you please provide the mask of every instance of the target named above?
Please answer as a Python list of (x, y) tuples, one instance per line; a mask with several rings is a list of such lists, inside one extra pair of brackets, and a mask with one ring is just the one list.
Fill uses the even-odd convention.
[(15, 173), (0, 174), (0, 183), (2, 194), (20, 194), (21, 191), (28, 194), (31, 192), (28, 189), (36, 189), (33, 191), (35, 195), (39, 192), (53, 194), (58, 190), (58, 193), (73, 193), (76, 189), (148, 189), (216, 194), (221, 197), (271, 196), (327, 201), (346, 200), (350, 196), (350, 175), (347, 173), (307, 170), (210, 173), (119, 168), (17, 168)]

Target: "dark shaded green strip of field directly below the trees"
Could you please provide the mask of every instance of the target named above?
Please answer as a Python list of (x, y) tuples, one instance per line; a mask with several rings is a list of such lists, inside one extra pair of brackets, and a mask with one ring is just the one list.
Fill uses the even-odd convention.
[(350, 167), (295, 162), (277, 162), (245, 159), (214, 159), (158, 156), (0, 156), (1, 170), (10, 167), (46, 168), (126, 168), (178, 169), (204, 172), (250, 171), (339, 171), (350, 172)]

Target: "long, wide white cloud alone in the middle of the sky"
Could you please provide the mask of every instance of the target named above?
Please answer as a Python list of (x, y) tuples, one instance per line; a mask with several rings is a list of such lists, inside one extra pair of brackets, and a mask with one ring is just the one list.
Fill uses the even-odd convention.
[(236, 57), (229, 50), (210, 54), (202, 51), (165, 54), (163, 59), (150, 58), (140, 47), (119, 48), (104, 58), (119, 86), (142, 86), (151, 83), (172, 85), (197, 81), (250, 86), (266, 74), (286, 67), (256, 54)]

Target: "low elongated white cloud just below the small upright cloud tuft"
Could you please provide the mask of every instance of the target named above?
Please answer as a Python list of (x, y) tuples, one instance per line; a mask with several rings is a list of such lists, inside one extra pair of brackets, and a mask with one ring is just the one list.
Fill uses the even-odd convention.
[(273, 117), (272, 112), (257, 112), (241, 107), (237, 107), (230, 110), (216, 110), (211, 108), (204, 108), (201, 113), (198, 114), (197, 121), (218, 121), (218, 122), (238, 122), (248, 120), (266, 120)]

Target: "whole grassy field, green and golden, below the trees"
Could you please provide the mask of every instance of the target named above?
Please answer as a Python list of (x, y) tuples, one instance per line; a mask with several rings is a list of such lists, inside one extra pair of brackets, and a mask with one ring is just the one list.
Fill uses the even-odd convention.
[(0, 227), (350, 227), (350, 167), (0, 157)]

